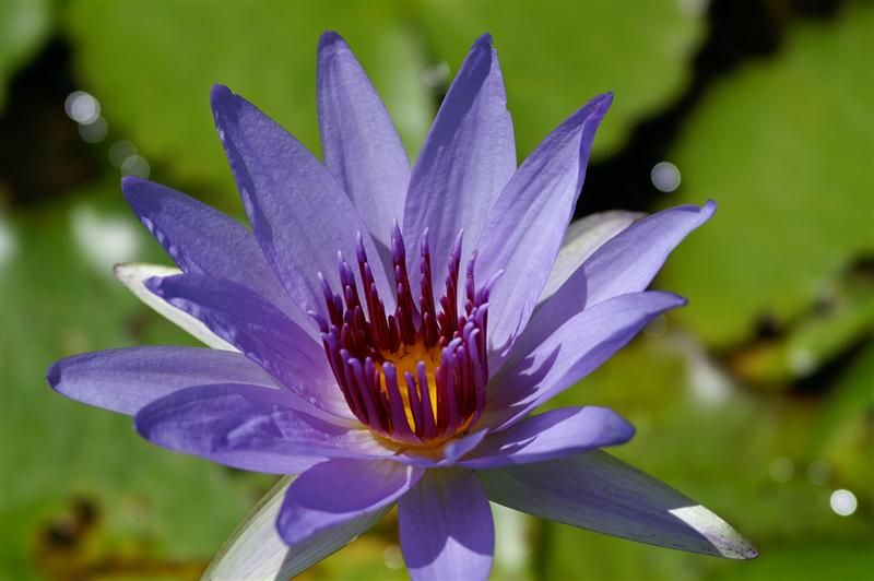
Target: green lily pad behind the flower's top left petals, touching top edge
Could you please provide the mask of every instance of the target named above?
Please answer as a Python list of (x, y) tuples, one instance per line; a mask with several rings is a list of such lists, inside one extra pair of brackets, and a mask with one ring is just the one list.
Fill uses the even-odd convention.
[(433, 105), (420, 78), (423, 47), (397, 7), (224, 3), (208, 10), (209, 25), (204, 10), (186, 2), (78, 2), (66, 14), (75, 66), (110, 131), (133, 141), (153, 167), (167, 167), (173, 181), (235, 191), (210, 110), (214, 83), (319, 152), (316, 47), (328, 28), (346, 36), (404, 143), (418, 150)]

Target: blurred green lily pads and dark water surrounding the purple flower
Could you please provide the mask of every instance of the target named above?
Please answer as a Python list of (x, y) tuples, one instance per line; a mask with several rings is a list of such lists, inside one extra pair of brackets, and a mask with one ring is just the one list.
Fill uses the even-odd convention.
[[(656, 286), (689, 297), (556, 404), (610, 405), (615, 450), (724, 517), (752, 562), (496, 509), (494, 578), (874, 578), (871, 2), (0, 3), (0, 578), (193, 579), (272, 482), (64, 400), (55, 359), (192, 344), (115, 283), (168, 262), (123, 174), (241, 216), (222, 82), (318, 152), (315, 51), (343, 34), (415, 157), (470, 44), (501, 58), (520, 158), (616, 100), (577, 215), (720, 204)], [(84, 93), (78, 93), (84, 92)], [(678, 180), (678, 183), (677, 183)], [(404, 577), (393, 515), (304, 574)]]

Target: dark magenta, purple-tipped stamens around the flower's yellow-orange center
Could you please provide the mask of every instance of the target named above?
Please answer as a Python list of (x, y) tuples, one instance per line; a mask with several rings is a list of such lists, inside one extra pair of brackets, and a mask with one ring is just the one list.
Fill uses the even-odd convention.
[[(468, 430), (485, 408), (486, 322), (493, 281), (476, 288), (474, 253), (459, 309), (461, 233), (449, 257), (445, 292), (435, 300), (428, 233), (420, 245), (417, 304), (406, 271), (400, 228), (391, 234), (398, 306), (386, 315), (361, 233), (358, 284), (338, 252), (341, 293), (320, 275), (328, 318), (319, 324), (328, 361), (352, 413), (376, 434), (408, 446), (434, 446)], [(437, 309), (439, 305), (439, 310)]]

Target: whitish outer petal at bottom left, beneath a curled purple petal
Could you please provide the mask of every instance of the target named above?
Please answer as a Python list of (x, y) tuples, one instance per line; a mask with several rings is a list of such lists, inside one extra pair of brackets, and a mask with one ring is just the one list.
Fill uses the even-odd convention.
[(293, 479), (281, 478), (258, 502), (212, 560), (203, 579), (288, 579), (346, 546), (389, 510), (346, 521), (290, 549), (276, 532), (276, 517)]

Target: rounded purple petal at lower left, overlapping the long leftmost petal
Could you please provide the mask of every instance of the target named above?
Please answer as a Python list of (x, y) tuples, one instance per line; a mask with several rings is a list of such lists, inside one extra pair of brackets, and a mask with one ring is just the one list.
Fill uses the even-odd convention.
[(381, 459), (370, 431), (323, 422), (288, 392), (243, 384), (199, 386), (143, 407), (137, 431), (149, 441), (228, 466), (296, 474), (326, 458)]

